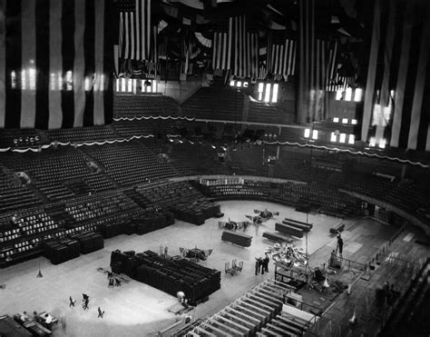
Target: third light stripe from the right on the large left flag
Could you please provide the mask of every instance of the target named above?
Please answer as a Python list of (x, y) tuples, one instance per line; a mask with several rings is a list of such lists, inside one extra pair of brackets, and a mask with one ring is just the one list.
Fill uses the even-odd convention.
[[(63, 75), (63, 55), (61, 53), (61, 21), (62, 21), (62, 1), (50, 1), (49, 14), (49, 65), (50, 65), (50, 82), (54, 82), (54, 90), (49, 90), (49, 121), (48, 128), (60, 128), (63, 120), (61, 106), (61, 88), (58, 87), (58, 81)], [(51, 77), (51, 74), (54, 74)]]

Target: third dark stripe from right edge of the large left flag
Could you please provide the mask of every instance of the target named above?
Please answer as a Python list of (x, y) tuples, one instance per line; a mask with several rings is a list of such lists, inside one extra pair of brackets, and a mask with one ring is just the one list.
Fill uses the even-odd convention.
[(74, 63), (74, 1), (63, 2), (62, 7), (62, 55), (63, 55), (63, 90), (62, 90), (62, 127), (73, 127), (74, 121), (74, 94), (67, 88), (67, 72), (73, 71)]

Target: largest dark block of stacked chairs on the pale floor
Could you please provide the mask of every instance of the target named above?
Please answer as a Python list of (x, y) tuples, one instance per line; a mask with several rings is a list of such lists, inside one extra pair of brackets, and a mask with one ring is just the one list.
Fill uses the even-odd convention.
[(111, 266), (133, 279), (149, 284), (176, 296), (184, 292), (191, 305), (206, 301), (212, 292), (220, 289), (220, 272), (187, 260), (171, 261), (146, 251), (127, 255), (112, 252)]

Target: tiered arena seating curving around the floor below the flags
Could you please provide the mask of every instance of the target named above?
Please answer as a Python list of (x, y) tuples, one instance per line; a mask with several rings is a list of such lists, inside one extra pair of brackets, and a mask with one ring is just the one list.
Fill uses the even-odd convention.
[[(213, 88), (200, 89), (182, 104), (184, 114), (192, 111), (209, 118), (218, 109), (217, 119), (233, 121), (232, 109), (243, 108), (243, 95), (230, 88), (221, 89), (224, 90), (226, 98), (214, 102), (210, 98), (214, 96)], [(177, 105), (173, 104), (173, 109), (171, 99), (161, 97), (142, 100), (157, 105), (153, 108), (157, 114), (173, 114)], [(127, 96), (118, 102), (127, 105), (128, 100), (132, 101)], [(115, 106), (122, 106), (118, 102)], [(133, 102), (124, 107), (124, 114), (117, 115), (142, 116), (132, 106), (137, 101)], [(149, 110), (144, 114), (148, 115)], [(388, 203), (428, 223), (429, 212), (425, 210), (430, 209), (430, 191), (425, 184), (390, 181), (371, 172), (351, 173), (343, 163), (331, 165), (329, 158), (309, 160), (307, 150), (295, 148), (281, 148), (279, 159), (269, 164), (269, 155), (276, 154), (275, 147), (261, 146), (256, 140), (297, 141), (297, 130), (281, 127), (279, 134), (279, 127), (273, 126), (149, 119), (49, 132), (2, 132), (2, 146), (19, 151), (30, 146), (34, 152), (7, 151), (0, 158), (0, 265), (42, 253), (43, 243), (48, 240), (64, 240), (78, 233), (99, 231), (104, 237), (148, 233), (171, 223), (166, 220), (167, 213), (200, 224), (219, 212), (208, 197), (258, 198), (294, 207), (306, 203), (318, 212), (339, 217), (363, 212), (362, 202), (339, 191), (345, 190)], [(123, 140), (142, 134), (154, 134), (155, 138)], [(181, 134), (188, 139), (175, 137), (170, 142), (167, 134)], [(116, 143), (39, 147), (51, 142), (80, 144), (106, 140)], [(227, 151), (220, 151), (221, 146)], [(384, 163), (378, 164), (383, 170)], [(167, 182), (174, 176), (201, 174), (247, 174), (289, 182), (246, 179), (243, 183), (210, 186), (195, 183), (194, 187), (185, 182)], [(13, 223), (13, 217), (19, 222)], [(157, 219), (157, 224), (147, 224), (148, 219)]]

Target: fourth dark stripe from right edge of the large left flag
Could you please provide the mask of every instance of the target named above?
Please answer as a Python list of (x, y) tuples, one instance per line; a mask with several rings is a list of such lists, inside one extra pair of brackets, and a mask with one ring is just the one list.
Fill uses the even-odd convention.
[(38, 129), (46, 129), (49, 121), (49, 36), (50, 36), (50, 4), (53, 0), (36, 0), (35, 1), (35, 34), (36, 36), (44, 36), (37, 38), (34, 41), (36, 45), (35, 64), (37, 66), (36, 76), (36, 95), (35, 95), (35, 120), (32, 127)]

